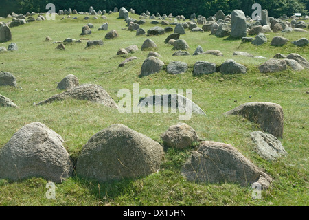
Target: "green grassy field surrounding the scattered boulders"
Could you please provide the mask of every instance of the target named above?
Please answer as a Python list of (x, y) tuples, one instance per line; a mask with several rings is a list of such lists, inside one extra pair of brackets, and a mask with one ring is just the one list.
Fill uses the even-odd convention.
[[(184, 61), (189, 69), (185, 74), (169, 75), (165, 70), (158, 74), (139, 78), (141, 64), (148, 52), (138, 50), (133, 54), (139, 59), (118, 67), (124, 58), (117, 56), (119, 48), (137, 45), (141, 48), (147, 36), (135, 36), (126, 28), (118, 14), (108, 15), (107, 20), (85, 21), (63, 19), (28, 23), (11, 28), (13, 39), (0, 46), (8, 47), (17, 43), (19, 51), (0, 54), (0, 71), (16, 76), (20, 87), (0, 87), (0, 94), (14, 100), (20, 109), (0, 108), (0, 148), (25, 124), (41, 122), (56, 131), (65, 140), (65, 148), (76, 160), (82, 146), (98, 131), (111, 124), (121, 123), (143, 133), (162, 144), (161, 133), (179, 122), (175, 113), (119, 113), (86, 101), (64, 100), (42, 106), (34, 102), (45, 100), (61, 91), (56, 82), (68, 74), (78, 77), (81, 84), (92, 83), (104, 87), (116, 102), (119, 89), (133, 91), (133, 83), (139, 89), (192, 89), (192, 101), (198, 104), (205, 115), (192, 115), (185, 123), (192, 126), (203, 140), (224, 142), (238, 148), (245, 157), (273, 177), (271, 188), (262, 192), (262, 199), (252, 198), (252, 188), (237, 184), (194, 184), (186, 181), (180, 173), (181, 166), (190, 156), (191, 148), (183, 151), (165, 149), (165, 158), (159, 173), (139, 179), (124, 179), (111, 183), (86, 181), (76, 176), (56, 184), (56, 199), (46, 199), (47, 181), (32, 178), (18, 182), (0, 180), (0, 206), (308, 206), (308, 69), (294, 72), (261, 74), (258, 65), (265, 60), (232, 56), (235, 51), (249, 52), (255, 56), (273, 58), (277, 53), (297, 53), (309, 61), (309, 49), (296, 47), (291, 41), (306, 37), (308, 33), (270, 33), (268, 43), (256, 47), (251, 43), (241, 44), (240, 40), (217, 38), (209, 32), (189, 32), (181, 35), (190, 46), (190, 54), (198, 45), (203, 49), (220, 50), (224, 56), (172, 56), (171, 45), (165, 45), (163, 36), (152, 36), (157, 43), (156, 52), (168, 65), (171, 61)], [(139, 19), (137, 15), (133, 15)], [(9, 21), (3, 19), (3, 21)], [(93, 23), (91, 40), (102, 39), (104, 46), (85, 49), (83, 43), (66, 45), (66, 50), (55, 50), (56, 44), (45, 41), (63, 41), (67, 37), (80, 39), (82, 26)], [(119, 33), (117, 39), (106, 40), (108, 31), (98, 31), (102, 23), (108, 22), (108, 30)], [(146, 31), (153, 27), (148, 21), (141, 25)], [(308, 21), (306, 21), (308, 22)], [(159, 25), (161, 26), (161, 25)], [(201, 27), (201, 25), (198, 25)], [(283, 47), (272, 47), (273, 36), (284, 36), (290, 40)], [(220, 72), (207, 76), (192, 76), (196, 61), (210, 61), (220, 65), (229, 58), (248, 67), (247, 74), (224, 75)], [(251, 96), (251, 98), (249, 98)], [(249, 133), (260, 131), (258, 125), (236, 116), (223, 113), (245, 102), (275, 102), (284, 110), (284, 139), (282, 144), (288, 155), (277, 162), (266, 162), (253, 151)]]

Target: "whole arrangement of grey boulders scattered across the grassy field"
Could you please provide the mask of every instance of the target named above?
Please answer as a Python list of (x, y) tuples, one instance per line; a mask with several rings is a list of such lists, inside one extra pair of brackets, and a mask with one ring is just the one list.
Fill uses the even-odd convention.
[[(117, 13), (115, 8), (113, 12)], [(196, 34), (210, 32), (218, 38), (230, 36), (238, 38), (242, 43), (252, 43), (259, 46), (267, 43), (267, 32), (290, 32), (299, 31), (306, 32), (306, 23), (301, 21), (284, 22), (283, 19), (274, 19), (268, 17), (266, 10), (262, 11), (262, 19), (260, 21), (252, 21), (244, 16), (240, 10), (233, 10), (230, 15), (225, 14), (220, 10), (214, 17), (205, 18), (203, 16), (196, 17), (192, 14), (190, 21), (186, 21), (185, 17), (178, 15), (173, 17), (157, 14), (150, 16), (149, 12), (141, 14), (139, 21), (130, 19), (129, 13), (135, 13), (134, 10), (119, 9), (119, 18), (125, 19), (128, 31), (136, 31), (136, 35), (157, 36), (169, 34), (164, 43), (167, 46), (172, 45), (174, 56), (191, 56), (185, 50), (190, 48), (190, 45), (184, 40), (183, 35), (188, 29)], [(93, 7), (89, 8), (88, 12), (77, 12), (76, 10), (59, 10), (58, 14), (85, 14), (85, 20), (90, 19), (88, 15), (102, 15), (102, 19), (106, 19), (105, 10), (96, 12)], [(12, 39), (10, 28), (25, 25), (32, 22), (34, 14), (16, 15), (12, 14), (14, 19), (10, 23), (0, 24), (0, 41), (6, 42)], [(103, 17), (104, 16), (104, 17)], [(26, 21), (26, 17), (29, 17)], [(94, 19), (97, 17), (94, 17)], [(70, 17), (67, 17), (70, 19)], [(74, 19), (74, 18), (73, 18)], [(98, 19), (98, 18), (97, 18)], [(152, 19), (150, 23), (156, 25), (149, 30), (144, 30), (141, 25), (148, 22), (146, 19)], [(45, 18), (39, 14), (34, 21), (43, 21)], [(159, 22), (161, 21), (161, 22)], [(174, 21), (174, 22), (172, 22)], [(185, 21), (181, 23), (181, 21)], [(198, 25), (203, 25), (198, 28)], [(161, 28), (158, 25), (174, 25), (172, 27)], [(91, 35), (94, 25), (88, 23), (82, 27), (80, 35)], [(249, 31), (247, 29), (249, 28)], [(293, 29), (294, 28), (294, 29)], [(108, 23), (104, 23), (98, 28), (98, 31), (108, 30)], [(247, 37), (255, 35), (255, 38)], [(119, 34), (117, 30), (111, 30), (105, 34), (105, 40), (117, 38)], [(51, 41), (52, 39), (47, 39)], [(75, 40), (71, 38), (60, 41), (57, 49), (65, 50), (65, 43), (82, 42), (82, 39)], [(272, 41), (272, 46), (283, 46), (289, 43), (288, 39), (281, 36), (275, 36)], [(301, 38), (292, 42), (297, 47), (306, 47), (308, 39)], [(87, 41), (87, 47), (103, 46), (102, 40)], [(9, 46), (15, 47), (15, 45)], [(162, 56), (152, 50), (156, 50), (157, 44), (152, 39), (146, 39), (141, 45), (141, 51), (150, 51), (148, 57), (141, 65), (140, 76), (149, 76), (156, 74), (164, 69), (165, 63), (161, 61)], [(137, 45), (130, 45), (126, 48), (120, 48), (117, 51), (119, 56), (127, 56), (139, 50)], [(5, 51), (3, 49), (3, 51)], [(1, 50), (0, 50), (1, 52)], [(210, 54), (214, 56), (224, 57), (224, 54), (219, 50), (207, 50), (204, 52), (201, 46), (198, 46), (192, 54), (197, 56), (198, 61), (194, 63), (193, 76), (201, 76), (204, 74), (213, 74), (220, 72), (222, 74), (246, 74), (248, 71), (245, 65), (236, 63), (232, 59), (224, 61), (219, 66), (216, 63), (203, 61), (203, 55)], [(167, 56), (164, 54), (163, 56)], [(233, 56), (247, 56), (251, 58), (262, 58), (253, 56), (247, 52), (233, 52)], [(124, 67), (126, 63), (137, 59), (136, 56), (126, 58), (119, 67)], [(265, 61), (259, 65), (258, 69), (261, 73), (277, 72), (291, 68), (295, 71), (309, 69), (309, 62), (299, 54), (283, 54), (275, 55), (275, 58)], [(167, 64), (166, 72), (168, 74), (184, 74), (187, 72), (187, 63), (181, 61), (172, 61)], [(16, 87), (16, 78), (8, 72), (0, 73), (0, 86)], [(100, 86), (92, 84), (79, 85), (78, 78), (69, 75), (62, 79), (57, 86), (58, 89), (64, 89), (61, 94), (57, 94), (38, 102), (36, 105), (47, 104), (50, 102), (64, 100), (66, 98), (76, 98), (78, 100), (89, 100), (98, 104), (103, 104), (107, 107), (117, 108), (117, 104), (109, 96), (109, 94)], [(176, 97), (176, 98), (175, 98)], [(159, 102), (158, 102), (159, 100)], [(163, 102), (167, 100), (167, 102)], [(176, 102), (173, 102), (173, 100)], [(190, 109), (186, 109), (187, 102), (190, 102)], [(206, 115), (205, 112), (191, 100), (187, 100), (180, 94), (165, 94), (162, 96), (149, 96), (139, 100), (139, 106), (146, 105), (163, 105), (165, 107), (181, 109), (181, 111), (192, 111)], [(15, 107), (16, 104), (9, 98), (0, 95), (0, 106)], [(275, 160), (277, 157), (286, 155), (282, 144), (277, 138), (283, 138), (283, 110), (279, 104), (270, 102), (250, 102), (244, 103), (231, 111), (227, 111), (225, 115), (241, 115), (244, 118), (260, 124), (263, 132), (251, 133), (251, 138), (255, 144), (256, 151), (261, 157), (267, 160)], [(181, 174), (188, 181), (198, 181), (206, 183), (222, 183), (231, 182), (240, 184), (241, 186), (249, 186), (254, 182), (258, 182), (263, 188), (268, 188), (272, 182), (270, 176), (264, 173), (260, 168), (255, 166), (244, 155), (242, 155), (235, 147), (230, 144), (220, 142), (203, 141), (198, 137), (198, 134), (191, 126), (181, 123), (170, 126), (168, 131), (161, 135), (163, 146), (183, 149), (198, 145), (188, 161), (183, 164)], [(44, 177), (45, 179), (55, 182), (61, 182), (62, 179), (70, 177), (73, 174), (73, 166), (69, 158), (69, 154), (63, 147), (64, 141), (62, 137), (47, 128), (44, 124), (34, 122), (27, 124), (17, 131), (11, 140), (0, 149), (0, 179), (12, 179), (14, 181), (25, 179), (27, 177)], [(76, 164), (76, 173), (80, 177), (86, 179), (96, 179), (98, 181), (111, 181), (123, 178), (137, 178), (151, 173), (157, 172), (160, 168), (161, 160), (164, 152), (163, 146), (158, 142), (146, 137), (137, 131), (133, 131), (123, 124), (113, 124), (102, 131), (99, 131), (84, 145), (82, 154), (78, 158)], [(16, 159), (17, 158), (17, 159)], [(35, 158), (35, 159), (33, 159)], [(51, 169), (52, 168), (52, 169)]]

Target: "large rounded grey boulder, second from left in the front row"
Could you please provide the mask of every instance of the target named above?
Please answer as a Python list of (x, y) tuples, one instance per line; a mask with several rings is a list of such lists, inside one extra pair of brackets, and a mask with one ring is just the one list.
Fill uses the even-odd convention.
[(113, 124), (84, 145), (76, 173), (100, 182), (137, 178), (157, 172), (162, 158), (159, 143), (123, 124)]

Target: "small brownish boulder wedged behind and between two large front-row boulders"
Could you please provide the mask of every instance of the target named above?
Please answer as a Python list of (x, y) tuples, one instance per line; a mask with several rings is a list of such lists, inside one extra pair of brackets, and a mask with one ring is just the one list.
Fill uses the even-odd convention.
[(185, 123), (170, 126), (168, 131), (161, 135), (161, 139), (165, 146), (176, 149), (187, 148), (200, 140), (196, 131)]

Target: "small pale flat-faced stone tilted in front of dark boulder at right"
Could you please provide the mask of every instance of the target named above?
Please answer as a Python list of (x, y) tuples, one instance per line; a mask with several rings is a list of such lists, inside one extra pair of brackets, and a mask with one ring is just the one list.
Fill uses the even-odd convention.
[(278, 157), (287, 155), (284, 147), (277, 137), (263, 133), (262, 131), (255, 131), (250, 133), (251, 140), (255, 146), (255, 151), (258, 155), (266, 160), (276, 160)]

